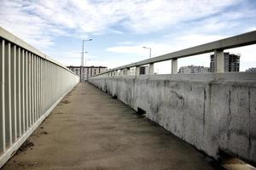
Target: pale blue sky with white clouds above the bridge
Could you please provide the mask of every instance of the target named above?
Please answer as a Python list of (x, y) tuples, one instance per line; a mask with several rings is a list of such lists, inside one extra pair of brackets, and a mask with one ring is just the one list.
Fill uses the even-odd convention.
[[(116, 67), (256, 30), (255, 0), (0, 0), (0, 26), (64, 65)], [(241, 54), (241, 71), (256, 67), (256, 46)], [(209, 66), (209, 54), (178, 66)], [(170, 62), (158, 64), (159, 73)]]

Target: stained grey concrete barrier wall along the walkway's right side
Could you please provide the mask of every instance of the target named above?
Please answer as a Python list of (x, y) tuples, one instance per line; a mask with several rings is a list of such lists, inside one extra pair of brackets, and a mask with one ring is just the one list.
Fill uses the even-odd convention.
[(92, 77), (90, 83), (218, 159), (256, 163), (256, 74)]

